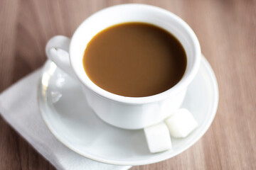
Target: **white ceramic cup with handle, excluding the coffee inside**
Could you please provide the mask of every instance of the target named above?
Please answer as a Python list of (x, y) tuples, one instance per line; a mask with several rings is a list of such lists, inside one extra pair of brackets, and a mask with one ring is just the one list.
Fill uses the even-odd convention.
[[(85, 73), (82, 57), (93, 36), (115, 24), (131, 21), (164, 28), (178, 38), (186, 51), (187, 67), (181, 81), (161, 94), (146, 97), (119, 96), (101, 89)], [(55, 49), (58, 48), (67, 51), (69, 58), (56, 55)], [(81, 23), (71, 40), (62, 35), (51, 38), (46, 45), (46, 54), (60, 69), (80, 81), (87, 98), (87, 101), (80, 102), (87, 102), (106, 123), (124, 129), (154, 125), (178, 109), (201, 61), (201, 48), (193, 30), (174, 13), (144, 4), (122, 4), (98, 11)]]

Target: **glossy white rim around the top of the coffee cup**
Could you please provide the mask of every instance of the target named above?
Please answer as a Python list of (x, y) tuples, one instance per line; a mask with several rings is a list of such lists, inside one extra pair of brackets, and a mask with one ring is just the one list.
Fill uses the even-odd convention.
[[(89, 81), (92, 82), (92, 84), (88, 84), (86, 81), (84, 81), (82, 79), (82, 77), (84, 77), (84, 75), (80, 75), (78, 74), (78, 72), (76, 72), (75, 68), (75, 62), (73, 62), (72, 60), (72, 51), (73, 51), (73, 41), (74, 41), (74, 36), (75, 33), (78, 32), (78, 30), (80, 30), (79, 28), (82, 27), (82, 24), (87, 21), (87, 19), (92, 18), (92, 16), (95, 16), (97, 13), (100, 13), (102, 11), (106, 11), (106, 10), (110, 10), (112, 8), (119, 8), (119, 7), (124, 7), (124, 6), (129, 6), (129, 7), (134, 7), (134, 6), (139, 6), (141, 8), (149, 8), (151, 10), (155, 10), (156, 12), (159, 13), (164, 13), (165, 15), (168, 15), (170, 18), (176, 20), (176, 22), (178, 22), (178, 24), (180, 26), (182, 26), (186, 32), (188, 33), (188, 35), (191, 36), (191, 40), (194, 44), (195, 47), (195, 60), (192, 63), (192, 69), (191, 72), (188, 73), (184, 73), (184, 75), (186, 74), (186, 79), (184, 79), (184, 75), (181, 78), (180, 81), (178, 81), (178, 83), (171, 87), (171, 89), (168, 89), (164, 92), (161, 92), (160, 94), (155, 94), (152, 96), (144, 96), (144, 97), (128, 97), (128, 96), (120, 96), (117, 94), (112, 94), (109, 91), (106, 91), (105, 89), (100, 88), (99, 86), (97, 86), (96, 84), (94, 84), (89, 78)], [(188, 24), (183, 21), (181, 18), (179, 18), (178, 16), (176, 16), (174, 13), (171, 13), (170, 11), (167, 11), (163, 8), (159, 8), (156, 6), (151, 6), (151, 5), (146, 5), (146, 4), (121, 4), (121, 5), (116, 5), (116, 6), (110, 6), (107, 8), (104, 8), (100, 11), (97, 11), (96, 13), (93, 13), (91, 16), (89, 16), (88, 18), (85, 19), (85, 21), (83, 21), (80, 26), (78, 26), (78, 28), (75, 30), (75, 33), (73, 34), (73, 37), (71, 38), (71, 42), (70, 42), (70, 65), (73, 68), (75, 75), (78, 77), (78, 79), (80, 80), (80, 82), (87, 87), (87, 89), (90, 89), (90, 91), (92, 91), (93, 93), (97, 94), (98, 96), (102, 96), (104, 98), (110, 99), (111, 101), (116, 101), (119, 103), (126, 103), (126, 104), (144, 104), (144, 103), (153, 103), (156, 101), (162, 101), (165, 98), (169, 98), (170, 96), (174, 96), (176, 94), (178, 94), (178, 92), (182, 91), (183, 89), (186, 89), (186, 87), (188, 86), (188, 84), (191, 83), (191, 81), (193, 80), (193, 78), (196, 76), (196, 73), (198, 72), (198, 68), (201, 62), (201, 47), (198, 41), (198, 38), (196, 37), (196, 34), (193, 32), (193, 30), (190, 28), (190, 26), (188, 26)], [(81, 62), (82, 63), (82, 62)], [(86, 75), (86, 74), (85, 74)], [(86, 75), (87, 76), (87, 75)]]

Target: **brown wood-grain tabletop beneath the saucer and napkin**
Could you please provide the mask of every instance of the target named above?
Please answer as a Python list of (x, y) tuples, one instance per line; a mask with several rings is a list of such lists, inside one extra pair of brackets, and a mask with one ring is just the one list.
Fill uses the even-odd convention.
[[(53, 35), (71, 36), (92, 13), (134, 1), (0, 1), (0, 91), (46, 61)], [(195, 31), (218, 79), (218, 112), (193, 147), (146, 169), (256, 169), (256, 1), (141, 0)], [(0, 169), (54, 169), (0, 118)]]

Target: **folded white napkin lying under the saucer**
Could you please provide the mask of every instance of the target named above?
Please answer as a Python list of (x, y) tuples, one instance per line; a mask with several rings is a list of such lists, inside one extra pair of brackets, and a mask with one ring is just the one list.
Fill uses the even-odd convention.
[(41, 69), (21, 79), (0, 95), (0, 114), (56, 169), (124, 170), (131, 166), (116, 166), (92, 161), (62, 145), (50, 133), (41, 118), (38, 101), (38, 80)]

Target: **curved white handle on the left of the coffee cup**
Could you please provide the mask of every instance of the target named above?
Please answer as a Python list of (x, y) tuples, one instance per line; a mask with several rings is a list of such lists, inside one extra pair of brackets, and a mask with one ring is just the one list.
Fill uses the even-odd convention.
[(69, 59), (70, 38), (63, 35), (56, 35), (46, 44), (46, 55), (60, 69), (76, 79)]

